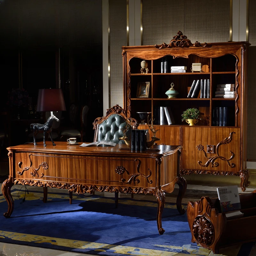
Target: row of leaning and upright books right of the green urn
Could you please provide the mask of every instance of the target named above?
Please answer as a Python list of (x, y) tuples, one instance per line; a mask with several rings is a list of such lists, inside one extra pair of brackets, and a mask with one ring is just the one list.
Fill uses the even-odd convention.
[(188, 92), (188, 98), (210, 99), (210, 79), (194, 80)]

